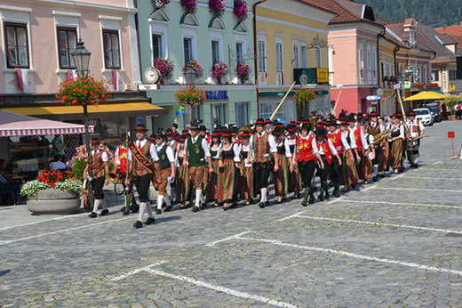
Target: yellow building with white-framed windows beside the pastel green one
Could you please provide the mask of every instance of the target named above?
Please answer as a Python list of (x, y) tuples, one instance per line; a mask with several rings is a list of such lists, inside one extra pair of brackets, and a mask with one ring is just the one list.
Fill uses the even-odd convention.
[[(285, 122), (297, 115), (293, 93), (305, 74), (315, 101), (303, 111), (327, 115), (331, 111), (328, 23), (335, 14), (315, 0), (267, 0), (256, 8), (259, 115), (269, 118), (293, 81), (296, 86), (278, 111)], [(299, 112), (300, 113), (300, 112)]]

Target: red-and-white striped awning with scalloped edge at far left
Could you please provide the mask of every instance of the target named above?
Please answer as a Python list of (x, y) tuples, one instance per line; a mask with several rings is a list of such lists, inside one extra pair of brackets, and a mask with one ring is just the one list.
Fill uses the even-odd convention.
[[(93, 127), (90, 127), (92, 133)], [(78, 124), (34, 118), (0, 110), (0, 137), (21, 137), (41, 134), (84, 134)]]

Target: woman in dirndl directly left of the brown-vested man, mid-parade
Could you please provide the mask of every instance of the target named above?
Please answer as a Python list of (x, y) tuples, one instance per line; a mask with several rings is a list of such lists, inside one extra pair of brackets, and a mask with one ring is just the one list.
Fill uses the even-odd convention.
[(253, 176), (253, 151), (251, 151), (251, 133), (241, 134), (241, 144), (239, 146), (240, 173), (241, 173), (241, 199), (245, 200), (245, 205), (250, 206), (255, 198), (254, 176)]

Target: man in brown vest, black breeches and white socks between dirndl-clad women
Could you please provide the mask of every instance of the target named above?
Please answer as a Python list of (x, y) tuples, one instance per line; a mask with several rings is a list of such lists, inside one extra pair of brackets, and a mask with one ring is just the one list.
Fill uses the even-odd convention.
[(251, 137), (251, 150), (255, 158), (255, 182), (256, 190), (260, 193), (259, 207), (267, 207), (267, 186), (268, 178), (271, 173), (271, 155), (275, 158), (274, 171), (279, 170), (277, 163), (277, 149), (275, 137), (265, 131), (265, 122), (259, 118), (255, 122), (256, 134)]

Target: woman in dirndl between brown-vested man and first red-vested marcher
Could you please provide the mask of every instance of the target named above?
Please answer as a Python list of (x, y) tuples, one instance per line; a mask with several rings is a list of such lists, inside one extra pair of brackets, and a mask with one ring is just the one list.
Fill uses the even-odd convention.
[(285, 195), (289, 192), (289, 174), (293, 171), (292, 168), (292, 154), (289, 147), (289, 142), (283, 137), (284, 128), (276, 126), (273, 134), (275, 135), (275, 142), (277, 148), (277, 163), (279, 170), (274, 173), (275, 177), (275, 193), (277, 196), (276, 203), (283, 203)]

